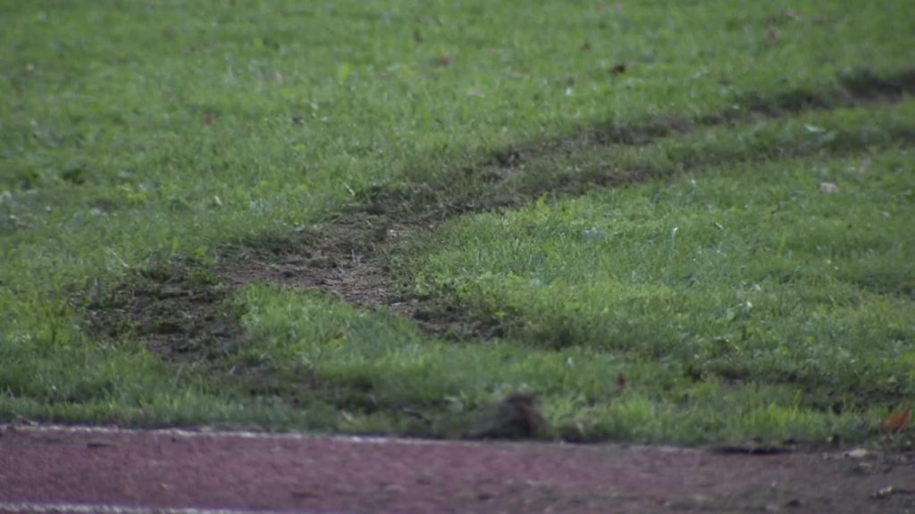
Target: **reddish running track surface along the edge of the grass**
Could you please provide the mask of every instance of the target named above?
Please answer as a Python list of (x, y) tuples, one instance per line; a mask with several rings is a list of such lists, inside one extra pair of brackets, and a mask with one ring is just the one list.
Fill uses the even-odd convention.
[(910, 455), (0, 426), (0, 511), (141, 511), (133, 508), (915, 513), (915, 463)]

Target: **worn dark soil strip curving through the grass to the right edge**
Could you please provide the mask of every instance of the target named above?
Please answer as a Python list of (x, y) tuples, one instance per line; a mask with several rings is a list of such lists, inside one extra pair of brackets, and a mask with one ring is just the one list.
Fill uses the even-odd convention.
[[(646, 145), (699, 128), (760, 117), (899, 102), (912, 93), (915, 70), (889, 77), (863, 71), (841, 78), (839, 87), (831, 91), (787, 91), (773, 97), (750, 94), (738, 99), (736, 108), (696, 121), (671, 117), (633, 127), (598, 126), (558, 141), (517, 145), (477, 166), (434, 172), (432, 177), (416, 174), (400, 187), (362, 192), (358, 206), (311, 230), (227, 247), (215, 268), (171, 263), (137, 273), (111, 297), (89, 305), (91, 330), (106, 337), (139, 338), (167, 359), (219, 360), (242, 344), (240, 313), (226, 304), (231, 291), (239, 285), (267, 282), (336, 294), (363, 307), (391, 308), (436, 335), (499, 337), (498, 323), (469, 320), (447, 299), (418, 301), (398, 294), (391, 269), (398, 245), (458, 215), (521, 206), (544, 193), (573, 196), (593, 187), (665, 177), (733, 162), (734, 157), (691, 156), (676, 169), (596, 167), (572, 176), (556, 175), (549, 166), (554, 159), (608, 145)], [(891, 136), (904, 144), (915, 141), (915, 134), (905, 131)], [(835, 153), (858, 152), (868, 145), (867, 141), (844, 142)], [(779, 156), (819, 150), (798, 145), (783, 149)]]

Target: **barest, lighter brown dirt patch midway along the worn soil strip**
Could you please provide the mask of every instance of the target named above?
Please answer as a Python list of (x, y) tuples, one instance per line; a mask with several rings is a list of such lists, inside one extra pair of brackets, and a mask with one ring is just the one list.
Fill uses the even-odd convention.
[(283, 284), (333, 294), (363, 308), (388, 308), (440, 337), (497, 336), (454, 305), (399, 292), (392, 269), (397, 246), (417, 232), (434, 230), (439, 221), (391, 210), (350, 211), (296, 234), (232, 247), (220, 275), (232, 286)]

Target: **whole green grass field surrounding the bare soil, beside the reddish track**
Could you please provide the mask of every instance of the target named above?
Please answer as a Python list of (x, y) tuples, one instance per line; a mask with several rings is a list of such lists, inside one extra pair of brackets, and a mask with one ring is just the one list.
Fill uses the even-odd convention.
[[(448, 435), (536, 390), (567, 438), (866, 440), (915, 387), (912, 103), (701, 122), (910, 71), (912, 11), (0, 2), (0, 419)], [(673, 119), (696, 126), (549, 145)], [(498, 341), (270, 284), (226, 290), (244, 336), (208, 360), (87, 328), (141, 272), (220, 282), (228, 243), (485, 197), (455, 170), (529, 147), (490, 203), (520, 209), (390, 249), (404, 294)]]

